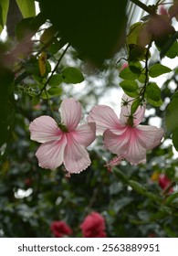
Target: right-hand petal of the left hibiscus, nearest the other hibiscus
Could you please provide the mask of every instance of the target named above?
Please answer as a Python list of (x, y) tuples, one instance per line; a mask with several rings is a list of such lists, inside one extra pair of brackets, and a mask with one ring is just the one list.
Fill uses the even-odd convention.
[(72, 135), (78, 144), (87, 147), (96, 138), (96, 123), (81, 124)]

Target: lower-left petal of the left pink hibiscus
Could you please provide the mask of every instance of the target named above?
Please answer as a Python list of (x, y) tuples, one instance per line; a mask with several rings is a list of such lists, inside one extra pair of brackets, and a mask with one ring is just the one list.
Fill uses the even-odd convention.
[(67, 138), (64, 134), (60, 140), (41, 144), (37, 149), (38, 165), (46, 169), (56, 169), (64, 161)]

